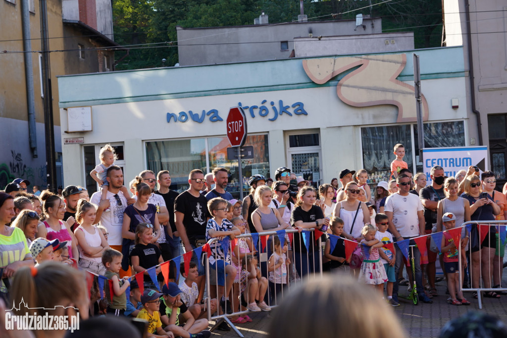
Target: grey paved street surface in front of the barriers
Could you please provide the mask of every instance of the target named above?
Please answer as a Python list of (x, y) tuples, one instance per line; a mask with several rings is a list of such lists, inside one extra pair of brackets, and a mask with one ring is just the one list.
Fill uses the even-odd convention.
[[(504, 278), (502, 285), (507, 285)], [(407, 337), (438, 337), (440, 330), (449, 320), (464, 315), (470, 310), (484, 311), (487, 314), (496, 316), (507, 324), (507, 295), (502, 295), (500, 299), (485, 298), (482, 299), (482, 310), (479, 310), (479, 302), (472, 297), (472, 293), (465, 293), (464, 296), (472, 305), (470, 306), (452, 306), (446, 302), (448, 295), (445, 294), (446, 282), (442, 281), (436, 284), (438, 297), (433, 297), (432, 304), (414, 306), (411, 300), (400, 298), (401, 306), (393, 308), (400, 319), (400, 323), (407, 333)], [(406, 292), (406, 286), (400, 286), (400, 294)], [(273, 309), (276, 311), (276, 309)], [(250, 313), (253, 320), (251, 323), (237, 324), (236, 327), (246, 338), (267, 336), (268, 323), (271, 318), (270, 313), (259, 312)], [(212, 322), (213, 323), (213, 322)], [(233, 331), (214, 330), (212, 337), (238, 337)]]

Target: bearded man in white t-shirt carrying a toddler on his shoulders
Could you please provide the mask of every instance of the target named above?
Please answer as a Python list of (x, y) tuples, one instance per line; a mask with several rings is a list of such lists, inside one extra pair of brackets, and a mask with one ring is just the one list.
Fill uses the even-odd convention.
[[(90, 197), (90, 202), (98, 206), (95, 224), (100, 221), (100, 224), (107, 229), (107, 243), (112, 249), (122, 252), (123, 212), (127, 207), (127, 198), (129, 198), (129, 196), (124, 196), (120, 191), (120, 188), (123, 186), (122, 168), (117, 165), (108, 167), (106, 180), (109, 182), (107, 199), (100, 200), (102, 192), (97, 191)], [(133, 202), (133, 199), (130, 199)], [(110, 208), (111, 212), (104, 213), (104, 210), (107, 208)], [(123, 269), (120, 270), (120, 277), (131, 275), (130, 272)]]

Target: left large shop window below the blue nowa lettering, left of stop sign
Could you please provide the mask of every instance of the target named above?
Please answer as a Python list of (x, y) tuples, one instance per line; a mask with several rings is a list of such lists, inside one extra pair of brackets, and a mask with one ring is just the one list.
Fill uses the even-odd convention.
[(155, 175), (161, 170), (171, 174), (171, 189), (188, 189), (189, 173), (200, 169), (207, 173), (206, 139), (154, 141), (146, 143), (148, 169)]

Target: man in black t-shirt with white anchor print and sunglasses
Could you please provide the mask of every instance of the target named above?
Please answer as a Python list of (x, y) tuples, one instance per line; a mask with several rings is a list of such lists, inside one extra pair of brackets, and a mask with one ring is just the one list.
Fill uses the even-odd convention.
[[(185, 252), (192, 251), (197, 246), (206, 243), (206, 223), (210, 215), (207, 207), (208, 201), (200, 193), (204, 182), (202, 171), (194, 169), (189, 174), (190, 188), (180, 193), (174, 200), (174, 221)], [(192, 256), (192, 261), (198, 264), (195, 254)], [(199, 297), (197, 301), (200, 302), (204, 295), (204, 266), (200, 264), (198, 269)]]

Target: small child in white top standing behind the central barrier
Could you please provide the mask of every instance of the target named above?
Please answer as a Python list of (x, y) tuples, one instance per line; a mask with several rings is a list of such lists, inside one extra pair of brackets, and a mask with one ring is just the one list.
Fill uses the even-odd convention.
[[(286, 242), (283, 243), (282, 247), (278, 236), (273, 236), (273, 244), (275, 250), (273, 251), (273, 254), (271, 254), (271, 257), (269, 257), (268, 261), (269, 291), (271, 293), (271, 303), (276, 304), (283, 298), (282, 288), (288, 283), (287, 269), (291, 264), (291, 259), (286, 256)], [(259, 307), (260, 305), (261, 304), (259, 303)], [(261, 308), (261, 310), (263, 309)]]

